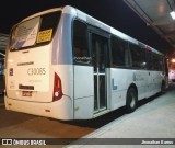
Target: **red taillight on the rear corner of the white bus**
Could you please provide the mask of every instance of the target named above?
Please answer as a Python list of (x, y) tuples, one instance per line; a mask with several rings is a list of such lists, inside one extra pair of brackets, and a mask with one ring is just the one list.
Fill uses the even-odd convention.
[(55, 80), (54, 80), (54, 93), (52, 93), (52, 101), (57, 101), (62, 98), (62, 86), (61, 79), (55, 72)]

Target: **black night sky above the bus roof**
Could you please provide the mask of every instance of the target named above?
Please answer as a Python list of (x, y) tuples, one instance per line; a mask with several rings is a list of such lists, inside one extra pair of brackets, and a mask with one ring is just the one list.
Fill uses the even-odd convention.
[(36, 12), (72, 5), (164, 54), (171, 50), (167, 42), (147, 26), (122, 0), (5, 0), (5, 2), (0, 5), (0, 33), (9, 34), (15, 23)]

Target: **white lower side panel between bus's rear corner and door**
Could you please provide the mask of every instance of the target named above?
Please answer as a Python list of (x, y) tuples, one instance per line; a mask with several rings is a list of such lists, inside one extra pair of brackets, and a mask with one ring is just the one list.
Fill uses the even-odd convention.
[(74, 118), (78, 119), (92, 118), (94, 110), (93, 67), (74, 65), (73, 88), (74, 88)]

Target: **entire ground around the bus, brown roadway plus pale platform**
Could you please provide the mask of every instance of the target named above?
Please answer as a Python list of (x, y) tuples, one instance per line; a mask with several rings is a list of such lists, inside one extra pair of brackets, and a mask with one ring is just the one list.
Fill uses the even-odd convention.
[[(96, 138), (101, 138), (100, 144), (105, 140), (109, 141), (110, 139), (108, 138), (175, 138), (175, 86), (171, 86), (168, 92), (163, 95), (139, 102), (138, 110), (131, 114), (125, 114), (122, 110), (118, 110), (93, 121), (61, 123), (58, 121), (49, 121), (48, 118), (25, 116), (22, 113), (4, 111), (3, 106), (0, 107), (0, 121), (3, 121), (0, 127), (0, 137), (3, 138), (5, 135), (5, 137), (9, 138), (58, 138), (58, 134), (61, 134), (61, 137), (72, 137), (71, 135), (73, 133), (79, 134), (81, 137), (83, 135), (81, 134), (83, 130), (82, 127), (85, 127), (88, 133), (97, 128), (95, 132), (83, 136), (84, 138), (91, 138), (89, 141), (90, 145), (52, 145), (47, 146), (48, 148), (175, 148), (175, 145), (91, 145)], [(5, 123), (8, 118), (11, 122)], [(68, 128), (65, 129), (63, 126), (66, 125), (62, 124), (67, 124)], [(61, 126), (58, 127), (58, 125)], [(12, 147), (18, 148), (18, 146)], [(37, 146), (31, 146), (30, 148), (33, 147)], [(5, 147), (3, 146), (3, 148)]]

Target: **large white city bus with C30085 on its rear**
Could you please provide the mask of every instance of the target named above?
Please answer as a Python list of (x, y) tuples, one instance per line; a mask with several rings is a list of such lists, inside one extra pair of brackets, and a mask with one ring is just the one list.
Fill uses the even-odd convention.
[(56, 119), (91, 119), (167, 87), (163, 54), (66, 5), (11, 30), (5, 109)]

